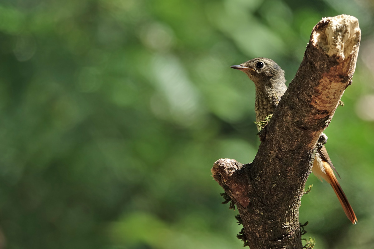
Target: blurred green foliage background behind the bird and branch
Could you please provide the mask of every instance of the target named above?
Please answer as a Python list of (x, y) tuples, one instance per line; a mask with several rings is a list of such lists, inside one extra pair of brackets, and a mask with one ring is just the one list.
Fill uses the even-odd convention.
[(300, 222), (315, 248), (374, 248), (371, 0), (2, 0), (0, 248), (241, 248), (210, 172), (259, 145), (229, 66), (269, 57), (290, 82), (340, 14), (362, 42), (326, 147), (358, 224), (314, 175)]

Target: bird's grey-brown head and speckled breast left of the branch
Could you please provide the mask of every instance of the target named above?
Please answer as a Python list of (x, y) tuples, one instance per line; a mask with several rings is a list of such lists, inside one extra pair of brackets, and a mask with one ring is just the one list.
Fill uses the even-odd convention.
[(255, 83), (256, 122), (263, 121), (266, 116), (273, 114), (287, 90), (282, 68), (273, 60), (262, 57), (231, 67), (245, 72)]

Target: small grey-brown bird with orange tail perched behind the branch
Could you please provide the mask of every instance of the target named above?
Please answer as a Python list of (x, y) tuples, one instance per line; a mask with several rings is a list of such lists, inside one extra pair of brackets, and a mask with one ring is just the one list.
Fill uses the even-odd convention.
[[(240, 65), (231, 66), (231, 68), (244, 72), (254, 82), (256, 89), (256, 122), (258, 124), (264, 121), (267, 116), (273, 114), (279, 100), (281, 100), (281, 97), (287, 90), (284, 71), (275, 61), (264, 57), (251, 59)], [(352, 224), (356, 224), (357, 218), (355, 212), (353, 212), (352, 206), (349, 204), (334, 171), (340, 177), (331, 162), (326, 147), (322, 146), (316, 152), (312, 172), (322, 182), (325, 180), (331, 184), (348, 219)]]

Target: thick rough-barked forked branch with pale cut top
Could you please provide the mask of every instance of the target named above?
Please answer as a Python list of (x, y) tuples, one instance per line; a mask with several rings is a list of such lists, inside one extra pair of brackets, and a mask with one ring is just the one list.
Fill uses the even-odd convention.
[(237, 206), (251, 249), (302, 248), (298, 210), (316, 142), (352, 83), (360, 39), (356, 18), (322, 19), (294, 80), (260, 133), (254, 161), (243, 165), (219, 159), (211, 169)]

